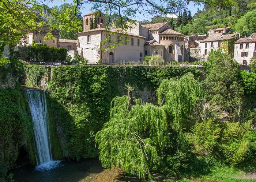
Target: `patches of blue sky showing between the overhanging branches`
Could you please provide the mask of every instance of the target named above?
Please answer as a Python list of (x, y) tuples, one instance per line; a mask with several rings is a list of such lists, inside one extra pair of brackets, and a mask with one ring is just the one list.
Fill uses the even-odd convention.
[[(160, 3), (160, 0), (156, 0), (156, 2), (159, 1)], [(47, 1), (44, 1), (44, 3), (46, 4)], [(53, 7), (55, 5), (59, 6), (63, 3), (72, 3), (72, 0), (54, 0), (53, 2), (49, 1), (47, 4), (49, 7)], [(198, 5), (195, 5), (193, 2), (190, 2), (188, 5), (187, 5), (188, 9), (190, 9), (192, 15), (194, 15), (197, 11), (197, 8), (199, 8), (200, 10), (203, 9), (203, 6), (200, 7)], [(86, 7), (83, 7), (83, 9), (81, 10), (82, 12), (82, 15), (86, 15), (87, 13), (90, 13), (90, 8), (91, 8), (91, 5), (90, 4), (86, 4)], [(143, 15), (140, 15), (138, 13), (137, 15), (138, 17), (133, 17), (133, 19), (137, 20), (137, 21), (142, 21), (142, 20), (145, 20), (145, 17)], [(176, 17), (176, 15), (168, 15), (168, 17)], [(148, 16), (146, 19), (147, 20), (150, 20), (152, 18), (152, 16)]]

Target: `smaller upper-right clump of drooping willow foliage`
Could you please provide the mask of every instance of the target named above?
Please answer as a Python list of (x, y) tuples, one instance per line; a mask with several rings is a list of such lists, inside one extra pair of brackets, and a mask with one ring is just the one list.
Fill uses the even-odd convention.
[(191, 72), (181, 78), (163, 80), (157, 89), (158, 103), (165, 99), (161, 108), (178, 130), (188, 121), (200, 95), (200, 85)]

